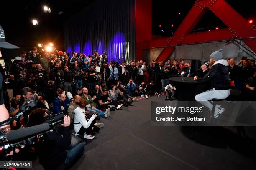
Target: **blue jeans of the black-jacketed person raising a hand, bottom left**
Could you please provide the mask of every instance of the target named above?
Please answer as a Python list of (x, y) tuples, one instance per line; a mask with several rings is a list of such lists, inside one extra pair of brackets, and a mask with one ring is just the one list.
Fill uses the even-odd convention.
[(72, 149), (68, 150), (65, 163), (70, 166), (74, 163), (77, 158), (80, 158), (84, 154), (84, 145), (79, 143), (75, 145)]

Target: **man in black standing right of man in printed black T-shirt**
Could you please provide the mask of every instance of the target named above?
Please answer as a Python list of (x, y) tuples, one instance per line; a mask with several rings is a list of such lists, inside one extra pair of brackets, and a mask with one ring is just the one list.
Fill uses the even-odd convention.
[(51, 69), (49, 74), (49, 79), (53, 81), (54, 83), (54, 89), (57, 89), (58, 87), (63, 88), (63, 79), (64, 79), (64, 72), (60, 69), (60, 63), (59, 61), (54, 62), (54, 68)]

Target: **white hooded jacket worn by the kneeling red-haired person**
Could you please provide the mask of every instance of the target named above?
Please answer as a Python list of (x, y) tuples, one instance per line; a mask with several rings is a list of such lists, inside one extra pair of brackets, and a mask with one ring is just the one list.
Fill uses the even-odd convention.
[(81, 109), (80, 107), (77, 107), (74, 110), (74, 130), (76, 133), (79, 132), (80, 128), (83, 126), (85, 129), (87, 129), (92, 121), (95, 119), (94, 116), (92, 116), (88, 122), (85, 118), (85, 109)]

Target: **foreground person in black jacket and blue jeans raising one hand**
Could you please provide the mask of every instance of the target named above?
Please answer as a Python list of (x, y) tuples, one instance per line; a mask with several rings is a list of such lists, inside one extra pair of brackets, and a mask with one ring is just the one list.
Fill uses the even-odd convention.
[[(44, 123), (46, 112), (33, 111), (30, 114), (33, 125)], [(71, 133), (69, 131), (70, 117), (64, 117), (63, 124), (53, 132), (46, 133), (44, 143), (36, 145), (39, 163), (46, 170), (66, 170), (69, 169), (75, 160), (79, 159), (84, 153), (84, 145), (79, 143), (69, 149), (71, 144)]]

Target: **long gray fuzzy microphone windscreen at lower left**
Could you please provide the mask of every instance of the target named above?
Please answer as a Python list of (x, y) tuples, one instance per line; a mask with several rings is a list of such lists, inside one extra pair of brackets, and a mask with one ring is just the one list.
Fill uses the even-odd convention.
[(27, 136), (35, 135), (36, 133), (41, 133), (49, 129), (49, 124), (44, 123), (42, 125), (31, 126), (28, 128), (17, 129), (6, 133), (8, 141), (18, 140), (20, 138), (25, 138)]

